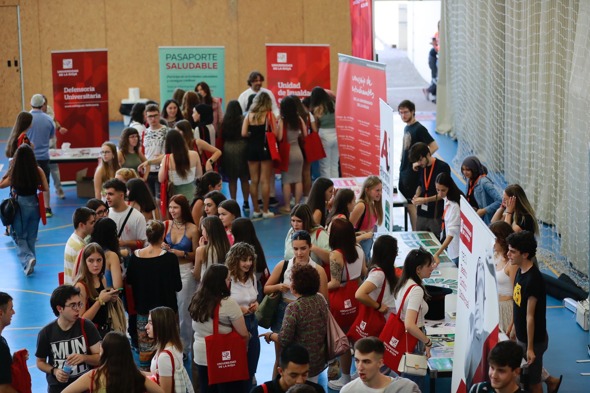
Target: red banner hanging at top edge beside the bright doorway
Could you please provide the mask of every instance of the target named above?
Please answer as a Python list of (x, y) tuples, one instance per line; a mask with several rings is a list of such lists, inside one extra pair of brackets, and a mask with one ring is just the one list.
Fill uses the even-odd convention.
[(371, 0), (350, 0), (352, 55), (373, 60), (373, 9)]

